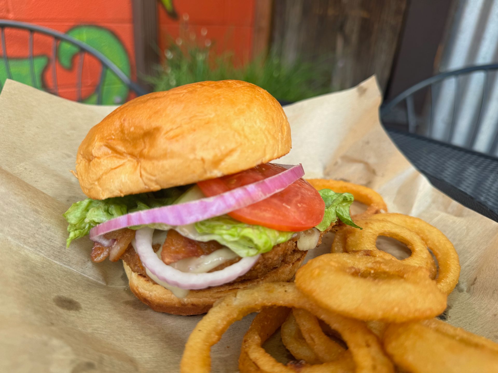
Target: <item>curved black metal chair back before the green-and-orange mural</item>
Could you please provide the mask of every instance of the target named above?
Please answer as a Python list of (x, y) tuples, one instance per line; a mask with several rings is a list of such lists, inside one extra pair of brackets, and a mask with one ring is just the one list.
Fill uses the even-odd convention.
[[(2, 56), (1, 58), (3, 59), (3, 64), (6, 70), (6, 76), (8, 79), (12, 79), (12, 74), (11, 70), (9, 67), (9, 57), (7, 56), (7, 48), (5, 44), (5, 28), (17, 28), (17, 29), (24, 29), (29, 31), (29, 36), (28, 36), (28, 59), (29, 59), (29, 67), (30, 67), (30, 74), (31, 74), (31, 83), (32, 86), (38, 89), (41, 89), (42, 87), (37, 87), (38, 84), (36, 82), (36, 77), (35, 77), (35, 68), (34, 68), (34, 59), (33, 59), (33, 34), (34, 33), (41, 33), (45, 35), (49, 35), (53, 37), (53, 42), (52, 42), (52, 79), (53, 79), (53, 91), (50, 91), (51, 93), (57, 94), (59, 93), (58, 91), (58, 85), (57, 85), (57, 71), (56, 71), (56, 64), (55, 60), (57, 57), (57, 43), (60, 41), (65, 41), (68, 43), (73, 44), (78, 48), (78, 68), (77, 68), (77, 74), (78, 74), (78, 79), (77, 79), (77, 92), (78, 92), (78, 101), (82, 100), (82, 75), (83, 75), (83, 60), (85, 53), (88, 53), (95, 57), (101, 64), (101, 71), (100, 71), (100, 78), (99, 78), (99, 83), (96, 88), (96, 93), (97, 93), (97, 104), (102, 103), (102, 90), (103, 90), (103, 83), (104, 83), (104, 78), (106, 76), (107, 71), (111, 71), (112, 74), (115, 74), (130, 90), (132, 90), (134, 93), (137, 95), (143, 95), (146, 94), (147, 92), (142, 89), (138, 84), (132, 82), (126, 74), (123, 73), (109, 58), (107, 58), (105, 55), (103, 55), (101, 52), (99, 52), (97, 49), (81, 42), (78, 39), (75, 39), (74, 37), (70, 35), (66, 35), (62, 32), (52, 30), (47, 27), (42, 27), (38, 25), (33, 25), (30, 23), (26, 22), (18, 22), (18, 21), (11, 21), (11, 20), (0, 20), (0, 40), (1, 40), (1, 52)], [(0, 91), (2, 87), (0, 85)]]

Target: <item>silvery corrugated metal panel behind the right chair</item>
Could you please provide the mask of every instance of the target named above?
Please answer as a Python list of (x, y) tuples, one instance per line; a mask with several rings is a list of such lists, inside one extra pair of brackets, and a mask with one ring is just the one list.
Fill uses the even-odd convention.
[[(440, 71), (497, 61), (498, 0), (460, 1)], [(476, 72), (447, 79), (433, 94), (431, 137), (480, 152), (492, 150), (498, 133), (498, 74)]]

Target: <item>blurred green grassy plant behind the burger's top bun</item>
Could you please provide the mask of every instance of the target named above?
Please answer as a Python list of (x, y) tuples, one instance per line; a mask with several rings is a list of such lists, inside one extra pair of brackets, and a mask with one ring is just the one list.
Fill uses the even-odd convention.
[(233, 52), (216, 54), (214, 43), (206, 34), (206, 29), (198, 36), (188, 25), (180, 27), (180, 37), (170, 40), (163, 63), (156, 67), (157, 73), (146, 78), (154, 91), (206, 80), (237, 79), (255, 84), (288, 102), (331, 92), (326, 58), (314, 63), (286, 63), (279, 58), (278, 50), (272, 49), (266, 56), (237, 66)]

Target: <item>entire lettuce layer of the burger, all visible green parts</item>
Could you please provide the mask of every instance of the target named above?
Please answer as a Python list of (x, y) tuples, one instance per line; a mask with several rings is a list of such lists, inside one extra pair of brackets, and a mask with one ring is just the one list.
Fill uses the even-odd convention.
[[(169, 188), (154, 193), (142, 193), (124, 197), (94, 200), (87, 198), (73, 203), (64, 213), (69, 226), (67, 246), (72, 240), (83, 237), (94, 226), (128, 212), (153, 207), (166, 206), (202, 198), (198, 187)], [(325, 201), (325, 215), (317, 228), (324, 231), (339, 217), (344, 223), (359, 228), (351, 220), (349, 207), (353, 202), (350, 193), (335, 193), (330, 189), (319, 191)], [(139, 229), (142, 226), (130, 227)], [(215, 240), (227, 246), (241, 257), (253, 256), (271, 250), (275, 245), (288, 241), (293, 232), (282, 232), (259, 225), (251, 225), (237, 221), (227, 215), (218, 216), (188, 226), (170, 227), (165, 224), (150, 224), (149, 227), (167, 230), (177, 229), (186, 237), (198, 241)]]

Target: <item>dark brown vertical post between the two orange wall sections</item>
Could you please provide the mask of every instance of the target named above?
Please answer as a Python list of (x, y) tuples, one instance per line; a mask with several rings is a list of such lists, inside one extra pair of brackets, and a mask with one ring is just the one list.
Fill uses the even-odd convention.
[(132, 11), (136, 78), (143, 88), (150, 90), (143, 78), (152, 75), (154, 65), (159, 62), (157, 0), (132, 0)]

